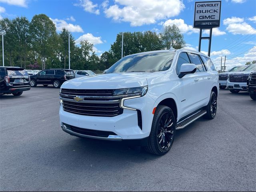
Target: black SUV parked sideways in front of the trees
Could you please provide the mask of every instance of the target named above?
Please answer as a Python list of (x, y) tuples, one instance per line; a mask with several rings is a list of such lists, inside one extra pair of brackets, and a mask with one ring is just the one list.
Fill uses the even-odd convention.
[(30, 75), (30, 85), (36, 87), (37, 84), (48, 86), (52, 84), (55, 88), (59, 88), (66, 80), (75, 78), (75, 74), (71, 69), (46, 69), (36, 75)]

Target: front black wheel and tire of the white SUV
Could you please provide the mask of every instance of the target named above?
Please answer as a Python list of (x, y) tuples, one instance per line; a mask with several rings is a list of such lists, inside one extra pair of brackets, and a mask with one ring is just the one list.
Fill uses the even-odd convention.
[(174, 142), (175, 127), (176, 120), (172, 109), (167, 106), (158, 106), (145, 150), (156, 155), (166, 154)]

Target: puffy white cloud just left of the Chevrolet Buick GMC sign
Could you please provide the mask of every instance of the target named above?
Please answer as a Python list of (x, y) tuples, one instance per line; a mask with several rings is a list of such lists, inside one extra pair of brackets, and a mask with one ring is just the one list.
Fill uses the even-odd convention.
[(178, 26), (178, 28), (180, 29), (180, 32), (182, 32), (183, 34), (199, 33), (199, 29), (193, 28), (192, 25), (187, 25), (183, 19), (174, 19), (174, 20), (169, 19), (166, 22), (164, 22), (163, 26), (165, 27), (168, 25)]

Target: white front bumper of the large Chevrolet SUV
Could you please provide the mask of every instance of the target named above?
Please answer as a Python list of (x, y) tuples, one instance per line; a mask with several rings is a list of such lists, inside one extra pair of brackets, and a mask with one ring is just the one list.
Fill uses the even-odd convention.
[[(131, 98), (124, 100), (124, 107), (133, 108), (130, 110), (124, 108), (123, 113), (113, 117), (103, 116), (85, 116), (66, 112), (63, 110), (62, 103), (60, 104), (60, 125), (62, 130), (71, 135), (104, 139), (104, 140), (138, 140), (147, 138), (151, 131), (153, 120), (152, 110), (155, 101), (147, 96)], [(138, 112), (142, 115), (142, 129), (138, 125)], [(65, 128), (63, 125), (70, 125), (80, 129), (97, 130), (103, 132), (113, 132), (109, 136), (98, 137), (92, 135), (81, 134)]]

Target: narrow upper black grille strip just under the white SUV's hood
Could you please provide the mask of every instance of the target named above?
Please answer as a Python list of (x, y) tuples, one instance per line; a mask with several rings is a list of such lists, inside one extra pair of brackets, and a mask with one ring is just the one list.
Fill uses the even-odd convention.
[(61, 93), (76, 96), (113, 96), (113, 89), (62, 89)]

